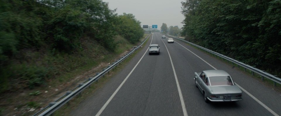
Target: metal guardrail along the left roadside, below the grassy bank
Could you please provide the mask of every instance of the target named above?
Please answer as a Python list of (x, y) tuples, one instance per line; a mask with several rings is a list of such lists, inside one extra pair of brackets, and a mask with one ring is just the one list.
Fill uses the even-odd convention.
[[(150, 34), (151, 35), (151, 34)], [(117, 66), (119, 63), (121, 63), (124, 59), (126, 59), (128, 56), (130, 56), (133, 52), (135, 52), (136, 50), (138, 50), (138, 48), (140, 48), (140, 46), (143, 45), (143, 43), (145, 43), (145, 41), (148, 39), (148, 37), (150, 36), (148, 35), (145, 40), (135, 49), (131, 50), (131, 52), (127, 53), (126, 55), (124, 55), (123, 57), (121, 57), (120, 59), (118, 59), (116, 62), (112, 63), (111, 65), (107, 66), (107, 68), (104, 68), (102, 71), (100, 71), (99, 73), (97, 73), (96, 75), (92, 76), (91, 78), (89, 78), (88, 80), (86, 80), (85, 82), (79, 84), (77, 87), (75, 87), (74, 89), (72, 89), (69, 92), (66, 92), (66, 94), (64, 94), (63, 96), (59, 97), (58, 99), (56, 99), (54, 102), (49, 103), (49, 105), (45, 108), (42, 108), (40, 111), (38, 111), (37, 113), (35, 113), (33, 116), (38, 115), (39, 116), (48, 116), (51, 115), (52, 113), (54, 113), (57, 109), (59, 109), (61, 106), (63, 106), (65, 103), (67, 103), (69, 100), (71, 100), (73, 97), (75, 97), (77, 94), (80, 94), (84, 89), (86, 89), (87, 87), (89, 87), (93, 82), (98, 81), (99, 78), (101, 78), (103, 75), (105, 75), (107, 72), (109, 72), (111, 69), (113, 69), (115, 66)], [(44, 112), (43, 112), (44, 111)]]

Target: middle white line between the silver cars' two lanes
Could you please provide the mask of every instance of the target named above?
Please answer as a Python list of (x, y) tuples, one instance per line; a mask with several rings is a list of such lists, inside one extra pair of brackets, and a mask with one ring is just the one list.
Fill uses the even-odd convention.
[[(161, 39), (162, 40), (162, 39)], [(177, 74), (176, 74), (176, 71), (175, 71), (175, 68), (174, 68), (174, 64), (173, 64), (173, 61), (172, 61), (172, 58), (170, 56), (170, 53), (169, 53), (169, 50), (165, 44), (165, 42), (162, 40), (162, 42), (164, 43), (167, 51), (168, 51), (168, 55), (170, 57), (170, 61), (171, 61), (171, 64), (172, 64), (172, 68), (173, 68), (173, 71), (174, 71), (174, 76), (175, 76), (175, 80), (176, 80), (176, 83), (177, 83), (177, 88), (178, 88), (178, 92), (179, 92), (179, 99), (181, 100), (181, 108), (182, 108), (182, 111), (184, 113), (184, 116), (188, 116), (187, 115), (187, 111), (186, 111), (186, 107), (185, 107), (185, 103), (184, 103), (184, 97), (182, 96), (182, 93), (181, 93), (181, 87), (179, 86), (179, 80), (178, 80), (178, 77), (177, 77)]]

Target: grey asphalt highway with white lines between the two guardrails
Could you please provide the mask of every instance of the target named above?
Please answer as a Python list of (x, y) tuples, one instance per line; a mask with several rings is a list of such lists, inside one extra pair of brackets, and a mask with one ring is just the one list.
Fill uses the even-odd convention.
[[(233, 66), (210, 57), (177, 39), (167, 43), (160, 33), (118, 74), (81, 102), (77, 116), (270, 116), (281, 115), (281, 94)], [(148, 46), (160, 45), (160, 55), (148, 55)], [(195, 87), (194, 72), (227, 71), (243, 90), (243, 100), (205, 103)]]

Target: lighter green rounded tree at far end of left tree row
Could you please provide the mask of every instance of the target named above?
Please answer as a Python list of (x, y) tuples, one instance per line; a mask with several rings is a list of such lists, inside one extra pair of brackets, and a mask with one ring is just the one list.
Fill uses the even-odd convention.
[(140, 26), (140, 21), (136, 20), (133, 14), (123, 13), (118, 16), (118, 21), (116, 24), (118, 33), (128, 41), (136, 43), (142, 38), (144, 30)]

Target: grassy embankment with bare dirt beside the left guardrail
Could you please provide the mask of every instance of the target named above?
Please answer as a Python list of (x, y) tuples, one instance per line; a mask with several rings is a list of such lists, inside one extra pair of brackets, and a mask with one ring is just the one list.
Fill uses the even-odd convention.
[[(143, 38), (147, 35), (145, 34)], [(81, 51), (73, 54), (23, 50), (24, 59), (22, 61), (14, 60), (6, 72), (9, 72), (10, 75), (16, 74), (23, 77), (24, 75), (47, 75), (48, 80), (43, 82), (37, 80), (40, 85), (32, 88), (26, 83), (29, 81), (18, 82), (20, 79), (6, 81), (6, 84), (11, 85), (11, 88), (8, 92), (2, 93), (1, 115), (34, 114), (39, 108), (47, 106), (62, 93), (77, 86), (78, 82), (99, 72), (109, 65), (108, 63), (114, 62), (124, 52), (136, 46), (121, 36), (116, 36), (114, 41), (118, 42), (114, 51), (107, 50), (90, 38), (84, 38), (81, 41), (83, 46)], [(36, 110), (29, 111), (30, 108)]]

